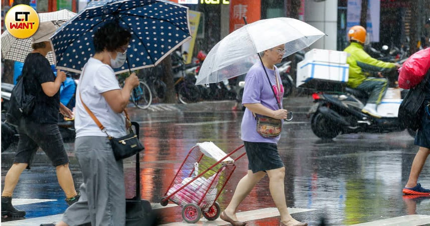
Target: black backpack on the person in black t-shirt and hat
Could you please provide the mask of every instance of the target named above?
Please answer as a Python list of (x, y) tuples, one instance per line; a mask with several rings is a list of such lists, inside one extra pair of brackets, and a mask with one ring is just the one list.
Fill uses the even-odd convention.
[(19, 125), (22, 116), (33, 112), (34, 105), (35, 96), (26, 93), (24, 78), (21, 75), (14, 89), (12, 89), (9, 108), (6, 112), (6, 120), (11, 124)]

